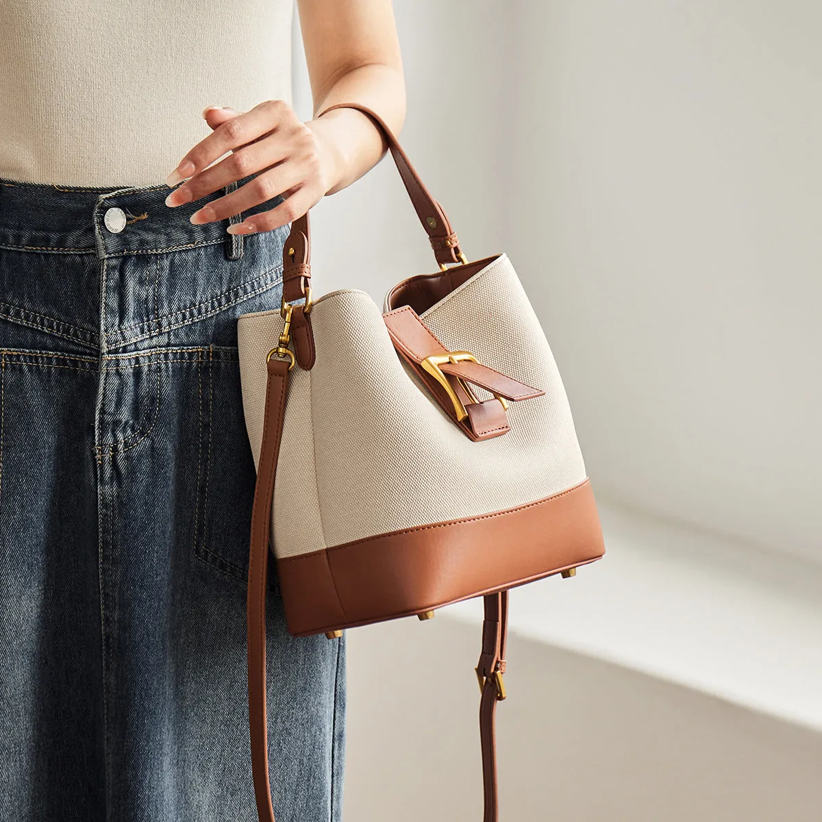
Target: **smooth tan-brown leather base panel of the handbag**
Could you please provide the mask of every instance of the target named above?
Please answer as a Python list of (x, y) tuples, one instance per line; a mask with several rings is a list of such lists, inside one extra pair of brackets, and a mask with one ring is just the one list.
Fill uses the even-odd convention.
[(289, 632), (408, 617), (592, 562), (604, 552), (588, 480), (496, 514), (277, 560)]

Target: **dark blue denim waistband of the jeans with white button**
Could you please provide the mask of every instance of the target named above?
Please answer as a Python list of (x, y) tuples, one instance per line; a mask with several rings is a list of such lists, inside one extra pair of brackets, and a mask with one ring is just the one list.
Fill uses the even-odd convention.
[[(96, 254), (111, 257), (159, 254), (224, 243), (226, 256), (242, 256), (241, 234), (229, 224), (269, 210), (284, 200), (277, 195), (239, 215), (195, 225), (189, 217), (207, 202), (234, 191), (251, 174), (199, 200), (173, 208), (164, 182), (150, 186), (95, 188), (0, 178), (0, 248), (23, 252)], [(107, 218), (108, 215), (108, 218)]]

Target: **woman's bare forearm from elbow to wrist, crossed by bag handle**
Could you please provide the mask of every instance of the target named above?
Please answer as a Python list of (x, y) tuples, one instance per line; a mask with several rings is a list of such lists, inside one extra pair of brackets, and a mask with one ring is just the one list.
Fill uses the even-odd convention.
[(362, 103), (378, 113), (395, 136), (405, 119), (405, 85), (395, 67), (372, 63), (339, 77), (314, 104), (315, 118), (306, 125), (328, 152), (330, 169), (326, 195), (339, 192), (372, 169), (388, 145), (381, 129), (357, 109), (334, 109), (320, 118), (316, 113), (336, 103)]

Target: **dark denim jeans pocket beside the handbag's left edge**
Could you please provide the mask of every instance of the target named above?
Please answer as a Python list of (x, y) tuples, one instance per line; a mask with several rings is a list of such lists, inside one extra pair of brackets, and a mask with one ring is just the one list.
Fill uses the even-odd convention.
[[(256, 470), (242, 413), (239, 362), (236, 351), (228, 354), (212, 347), (200, 363), (194, 553), (247, 583)], [(273, 556), (269, 589), (279, 593)]]

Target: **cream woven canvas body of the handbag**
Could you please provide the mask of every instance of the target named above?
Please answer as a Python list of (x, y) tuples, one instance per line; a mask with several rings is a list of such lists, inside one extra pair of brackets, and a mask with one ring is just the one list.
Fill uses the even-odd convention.
[[(545, 395), (510, 402), (510, 432), (472, 441), (399, 358), (370, 295), (341, 289), (319, 298), (312, 308), (316, 363), (290, 372), (272, 512), (276, 556), (526, 505), (586, 478), (560, 373), (505, 253), (423, 321), (446, 348), (470, 351)], [(238, 320), (255, 464), (266, 355), (282, 327), (279, 311)]]

